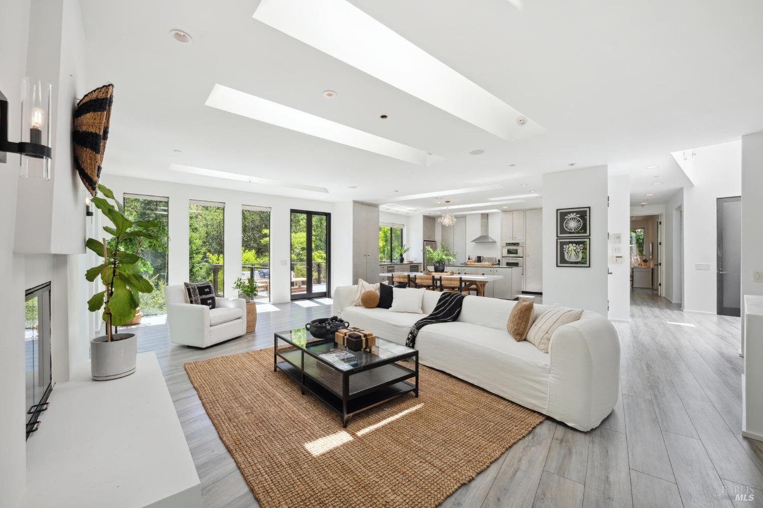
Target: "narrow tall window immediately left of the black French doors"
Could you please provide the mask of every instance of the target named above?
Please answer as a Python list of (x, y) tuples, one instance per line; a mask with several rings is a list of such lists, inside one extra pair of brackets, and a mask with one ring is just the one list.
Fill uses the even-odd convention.
[(270, 300), (270, 208), (242, 207), (241, 276), (254, 278), (257, 301)]

